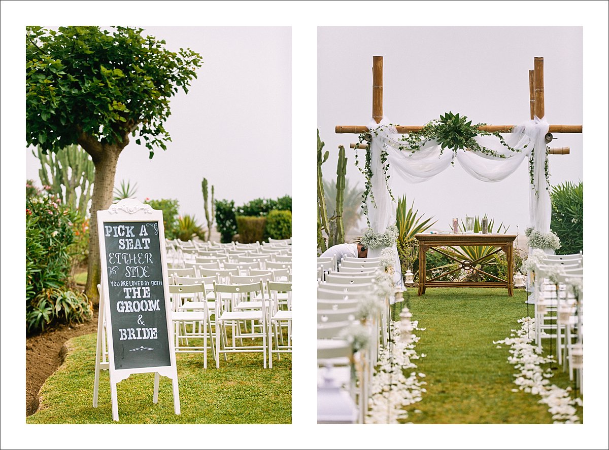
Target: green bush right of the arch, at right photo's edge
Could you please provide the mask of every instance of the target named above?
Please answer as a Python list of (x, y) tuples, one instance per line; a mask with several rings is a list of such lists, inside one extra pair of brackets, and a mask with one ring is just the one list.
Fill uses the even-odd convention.
[(550, 228), (560, 239), (558, 254), (583, 251), (583, 183), (566, 181), (552, 187)]

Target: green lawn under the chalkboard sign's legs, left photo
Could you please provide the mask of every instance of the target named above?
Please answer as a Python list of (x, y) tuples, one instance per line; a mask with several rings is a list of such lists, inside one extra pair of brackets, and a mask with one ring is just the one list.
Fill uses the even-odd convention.
[(220, 369), (208, 355), (176, 355), (181, 415), (174, 414), (171, 381), (161, 377), (159, 401), (152, 403), (152, 373), (118, 384), (119, 422), (112, 420), (108, 371), (102, 370), (99, 406), (93, 405), (96, 334), (71, 339), (64, 364), (41, 389), (41, 409), (27, 423), (291, 423), (292, 358), (262, 369), (261, 353), (224, 356)]

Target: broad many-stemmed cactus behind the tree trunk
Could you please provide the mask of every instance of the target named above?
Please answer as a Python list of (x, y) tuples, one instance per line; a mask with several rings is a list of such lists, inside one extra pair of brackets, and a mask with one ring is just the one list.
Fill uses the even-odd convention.
[[(57, 153), (48, 154), (37, 148), (37, 153), (32, 150), (32, 154), (40, 159), (38, 175), (42, 184), (51, 186), (51, 192), (57, 194), (64, 204), (78, 209), (79, 214), (85, 217), (95, 174), (91, 156), (78, 145), (69, 145)], [(77, 188), (80, 192), (76, 191)]]

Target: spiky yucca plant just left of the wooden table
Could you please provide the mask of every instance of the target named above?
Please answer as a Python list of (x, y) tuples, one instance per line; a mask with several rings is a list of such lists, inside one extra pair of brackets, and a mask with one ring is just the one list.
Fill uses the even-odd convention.
[(415, 234), (423, 233), (432, 226), (435, 222), (430, 223), (433, 217), (423, 220), (423, 215), (419, 215), (418, 209), (414, 210), (414, 200), (408, 208), (406, 203), (406, 194), (398, 198), (398, 206), (396, 208), (396, 226), (398, 227), (398, 255), (400, 256), (400, 265), (404, 274), (408, 269), (414, 269), (414, 262), (417, 260), (418, 244)]

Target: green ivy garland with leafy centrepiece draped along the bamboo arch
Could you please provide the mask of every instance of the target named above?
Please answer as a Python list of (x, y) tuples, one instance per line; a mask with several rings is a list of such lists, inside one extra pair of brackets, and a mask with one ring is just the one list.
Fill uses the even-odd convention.
[[(400, 140), (403, 141), (405, 144), (400, 145), (398, 147), (398, 150), (410, 151), (411, 153), (415, 153), (416, 151), (420, 150), (423, 145), (427, 144), (431, 140), (437, 140), (438, 144), (440, 144), (440, 155), (443, 154), (445, 148), (450, 148), (452, 150), (451, 164), (454, 165), (454, 158), (457, 155), (457, 151), (465, 150), (465, 149), (471, 150), (474, 152), (477, 151), (480, 153), (488, 154), (490, 156), (505, 158), (504, 154), (499, 154), (495, 150), (484, 147), (484, 145), (480, 145), (478, 142), (476, 142), (476, 140), (474, 140), (474, 137), (476, 137), (476, 136), (495, 136), (499, 139), (499, 142), (501, 142), (501, 144), (504, 145), (504, 147), (509, 148), (509, 150), (511, 150), (515, 153), (519, 153), (524, 148), (527, 148), (527, 145), (525, 145), (523, 147), (523, 149), (510, 147), (507, 144), (507, 142), (505, 142), (504, 137), (501, 136), (501, 133), (499, 133), (499, 131), (479, 130), (479, 127), (484, 126), (484, 125), (487, 125), (487, 123), (476, 123), (475, 125), (471, 125), (471, 120), (467, 122), (467, 116), (461, 116), (458, 112), (457, 112), (457, 114), (452, 114), (451, 111), (445, 112), (444, 116), (440, 116), (439, 120), (438, 119), (431, 120), (425, 126), (423, 126), (423, 128), (421, 128), (420, 131), (412, 131), (411, 133), (406, 134), (403, 137), (401, 137)], [(386, 125), (381, 125), (381, 126), (378, 126), (377, 128), (375, 128), (374, 130), (367, 131), (366, 133), (361, 133), (359, 135), (359, 144), (364, 144), (364, 143), (369, 144), (372, 140), (372, 137), (371, 137), (372, 134), (374, 134), (375, 137), (378, 136), (379, 131), (381, 130), (381, 128), (383, 126), (386, 126)], [(389, 126), (396, 126), (396, 125), (393, 125), (393, 123), (390, 123)], [(549, 167), (547, 164), (548, 151), (549, 151), (549, 147), (546, 147), (546, 162), (544, 165), (544, 171), (545, 171), (546, 182), (547, 182), (546, 190), (549, 190), (549, 185), (550, 185), (550, 174), (549, 174)], [(389, 163), (387, 162), (387, 156), (389, 156), (389, 153), (387, 152), (386, 143), (381, 148), (380, 156), (381, 156), (382, 172), (385, 177), (385, 185), (387, 186), (387, 190), (389, 191), (389, 195), (391, 196), (391, 199), (393, 201), (395, 201), (395, 198), (393, 198), (393, 194), (389, 187)], [(371, 179), (374, 174), (373, 174), (372, 167), (371, 167), (372, 154), (371, 154), (371, 150), (370, 150), (370, 145), (368, 145), (368, 148), (366, 150), (364, 168), (362, 169), (361, 165), (359, 165), (359, 161), (357, 159), (357, 153), (355, 156), (355, 165), (366, 178), (364, 193), (362, 194), (362, 199), (363, 199), (362, 209), (364, 209), (364, 214), (366, 215), (366, 217), (368, 217), (368, 209), (366, 206), (366, 202), (367, 202), (368, 198), (370, 198), (371, 204), (373, 204), (373, 206), (376, 207), (376, 202), (375, 202), (374, 195), (372, 193), (372, 185), (371, 185)], [(530, 183), (534, 186), (535, 182), (534, 182), (534, 176), (533, 176), (533, 172), (534, 172), (533, 169), (534, 169), (534, 154), (533, 154), (533, 150), (532, 150), (530, 157), (529, 157), (529, 178), (530, 178)], [(369, 224), (370, 224), (370, 221), (368, 221), (368, 225)]]

